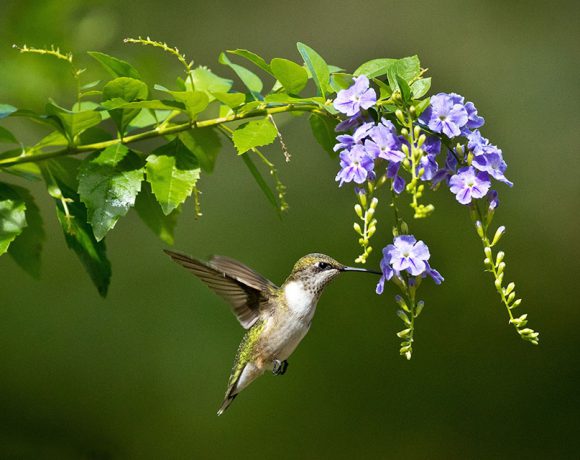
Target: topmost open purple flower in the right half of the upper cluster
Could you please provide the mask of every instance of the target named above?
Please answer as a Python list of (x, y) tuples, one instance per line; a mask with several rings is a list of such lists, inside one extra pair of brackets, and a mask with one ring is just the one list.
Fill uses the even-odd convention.
[(443, 133), (450, 138), (459, 136), (468, 120), (463, 97), (454, 93), (432, 96), (420, 120), (433, 132)]

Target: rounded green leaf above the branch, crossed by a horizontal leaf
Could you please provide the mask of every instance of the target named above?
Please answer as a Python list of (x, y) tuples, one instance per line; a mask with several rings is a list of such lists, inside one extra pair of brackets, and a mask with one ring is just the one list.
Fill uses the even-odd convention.
[[(119, 77), (111, 80), (103, 87), (103, 100), (121, 99), (127, 102), (142, 101), (147, 99), (149, 89), (140, 80), (129, 77)], [(120, 133), (125, 134), (131, 120), (139, 115), (140, 108), (136, 109), (113, 109), (109, 110), (111, 118), (117, 125)]]

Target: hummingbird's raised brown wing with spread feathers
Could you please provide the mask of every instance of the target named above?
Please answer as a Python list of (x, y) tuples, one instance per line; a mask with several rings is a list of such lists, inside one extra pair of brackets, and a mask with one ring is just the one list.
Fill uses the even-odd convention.
[(214, 256), (205, 263), (167, 249), (165, 253), (223, 297), (244, 329), (252, 327), (259, 318), (260, 308), (270, 304), (268, 299), (276, 286), (236, 260)]

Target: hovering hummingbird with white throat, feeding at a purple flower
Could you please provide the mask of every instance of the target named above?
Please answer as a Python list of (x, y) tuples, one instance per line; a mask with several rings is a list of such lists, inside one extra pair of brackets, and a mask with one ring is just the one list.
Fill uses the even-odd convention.
[(217, 415), (266, 371), (283, 375), (288, 358), (302, 341), (324, 288), (342, 272), (378, 271), (348, 267), (324, 254), (308, 254), (298, 260), (280, 287), (234, 259), (213, 256), (208, 262), (165, 250), (225, 299), (246, 329)]

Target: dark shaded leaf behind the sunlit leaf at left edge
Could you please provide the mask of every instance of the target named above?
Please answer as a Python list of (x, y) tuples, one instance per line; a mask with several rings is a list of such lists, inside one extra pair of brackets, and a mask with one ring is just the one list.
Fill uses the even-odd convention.
[(26, 227), (8, 248), (9, 254), (28, 274), (40, 277), (40, 255), (44, 242), (44, 229), (40, 210), (28, 190), (13, 187), (26, 204)]

